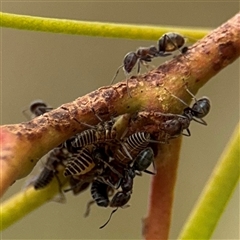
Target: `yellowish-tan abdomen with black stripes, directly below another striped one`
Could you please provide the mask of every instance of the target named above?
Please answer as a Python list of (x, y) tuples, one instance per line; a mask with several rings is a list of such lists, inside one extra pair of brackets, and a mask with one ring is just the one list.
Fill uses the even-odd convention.
[(71, 175), (83, 175), (90, 172), (94, 167), (95, 163), (91, 152), (87, 148), (84, 148), (78, 153), (73, 154), (67, 163), (63, 175), (65, 177)]

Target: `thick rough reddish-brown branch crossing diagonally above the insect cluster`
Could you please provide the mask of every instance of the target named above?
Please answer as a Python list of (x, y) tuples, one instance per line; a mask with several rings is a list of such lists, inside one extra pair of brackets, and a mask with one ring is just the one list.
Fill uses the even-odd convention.
[[(183, 80), (190, 91), (196, 93), (212, 76), (237, 59), (240, 53), (239, 18), (237, 14), (198, 41), (186, 54), (145, 75), (133, 77), (129, 80), (132, 98), (128, 97), (125, 82), (121, 82), (102, 87), (30, 122), (2, 126), (1, 138), (11, 139), (11, 144), (6, 147), (1, 142), (0, 193), (3, 194), (15, 180), (26, 176), (45, 153), (84, 129), (74, 118), (96, 124), (92, 108), (104, 119), (141, 109), (181, 112), (183, 106), (164, 88), (189, 102)], [(6, 149), (9, 154), (2, 154)]]

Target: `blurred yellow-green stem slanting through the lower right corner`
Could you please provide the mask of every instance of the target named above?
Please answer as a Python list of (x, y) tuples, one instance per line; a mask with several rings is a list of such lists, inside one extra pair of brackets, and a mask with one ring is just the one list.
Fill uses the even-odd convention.
[(210, 239), (239, 181), (239, 130), (240, 123), (236, 127), (229, 145), (212, 173), (179, 239)]

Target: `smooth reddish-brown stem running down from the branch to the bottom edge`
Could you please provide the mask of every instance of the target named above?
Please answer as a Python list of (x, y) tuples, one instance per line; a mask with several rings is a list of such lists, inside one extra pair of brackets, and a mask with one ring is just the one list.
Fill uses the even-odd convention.
[(147, 240), (168, 239), (181, 140), (178, 138), (170, 144), (160, 145), (156, 158), (157, 175), (152, 179), (148, 217), (143, 227)]

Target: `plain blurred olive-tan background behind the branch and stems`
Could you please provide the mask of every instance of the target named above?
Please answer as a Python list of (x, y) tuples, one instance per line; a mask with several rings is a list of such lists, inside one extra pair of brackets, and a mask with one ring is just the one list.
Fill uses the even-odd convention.
[[(239, 2), (2, 2), (2, 11), (42, 17), (215, 28), (239, 11)], [(156, 39), (157, 40), (157, 39)], [(35, 99), (53, 107), (108, 85), (124, 55), (154, 41), (1, 30), (1, 124), (26, 121), (22, 110)], [(177, 54), (177, 53), (176, 53)], [(154, 65), (163, 59), (154, 60)], [(144, 70), (144, 69), (143, 69)], [(120, 72), (118, 80), (124, 75)], [(239, 120), (239, 61), (215, 76), (198, 93), (208, 96), (212, 109), (208, 126), (191, 124), (192, 136), (183, 139), (172, 217), (176, 239)], [(15, 183), (6, 199), (25, 180)], [(135, 179), (131, 207), (119, 209), (102, 230), (112, 209), (92, 207), (84, 218), (90, 192), (66, 195), (67, 203), (50, 202), (5, 230), (2, 239), (141, 239), (147, 214), (147, 174)], [(16, 206), (18, 207), (18, 206)], [(14, 215), (14, 212), (12, 213)], [(239, 239), (239, 188), (221, 218), (213, 239)]]

